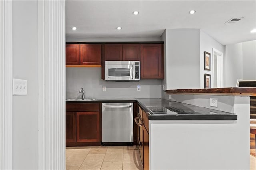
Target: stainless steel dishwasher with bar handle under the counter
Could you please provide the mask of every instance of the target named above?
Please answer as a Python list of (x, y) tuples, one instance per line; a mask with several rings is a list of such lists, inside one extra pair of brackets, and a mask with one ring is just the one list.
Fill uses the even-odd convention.
[(102, 103), (102, 144), (133, 144), (133, 103)]

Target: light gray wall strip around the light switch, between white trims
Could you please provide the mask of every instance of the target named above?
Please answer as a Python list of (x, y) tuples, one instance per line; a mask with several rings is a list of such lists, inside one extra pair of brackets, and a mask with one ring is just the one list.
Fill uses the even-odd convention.
[(13, 1), (13, 78), (28, 80), (28, 95), (13, 96), (13, 169), (38, 169), (38, 6)]

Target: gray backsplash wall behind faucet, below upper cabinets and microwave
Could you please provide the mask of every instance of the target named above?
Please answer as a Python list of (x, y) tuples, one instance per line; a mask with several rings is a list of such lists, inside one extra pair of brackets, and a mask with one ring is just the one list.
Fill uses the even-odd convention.
[[(161, 98), (162, 80), (142, 79), (137, 82), (115, 82), (101, 79), (101, 67), (66, 67), (66, 99), (80, 99), (83, 87), (86, 98), (133, 99)], [(140, 85), (140, 91), (137, 91)], [(102, 91), (106, 86), (106, 91)]]

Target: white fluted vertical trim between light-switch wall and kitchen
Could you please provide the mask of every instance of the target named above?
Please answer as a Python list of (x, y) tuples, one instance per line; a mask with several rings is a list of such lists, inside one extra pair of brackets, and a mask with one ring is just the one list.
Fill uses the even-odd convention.
[(38, 169), (66, 169), (65, 1), (38, 1)]

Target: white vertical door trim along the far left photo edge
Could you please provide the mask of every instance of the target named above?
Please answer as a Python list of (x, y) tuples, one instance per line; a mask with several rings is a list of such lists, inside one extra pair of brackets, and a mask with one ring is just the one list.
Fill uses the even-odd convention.
[(0, 0), (0, 169), (12, 169), (12, 1)]

